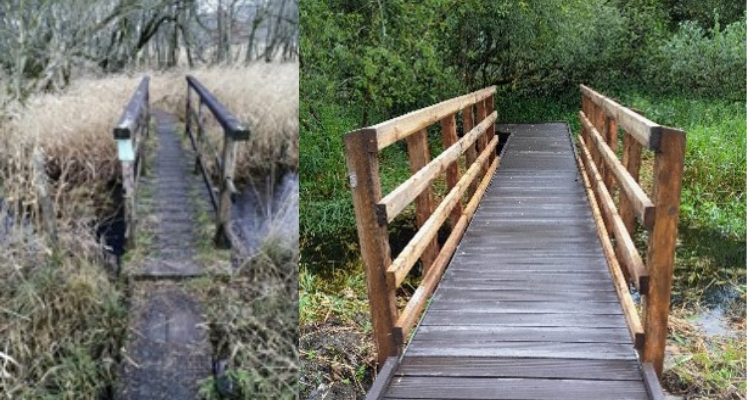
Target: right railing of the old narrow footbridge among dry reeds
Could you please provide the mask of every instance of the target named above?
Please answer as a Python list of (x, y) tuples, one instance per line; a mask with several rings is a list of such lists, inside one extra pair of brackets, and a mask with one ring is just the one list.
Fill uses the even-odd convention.
[[(192, 92), (198, 99), (198, 106), (192, 104)], [(219, 154), (218, 147), (214, 146), (209, 135), (206, 134), (205, 113), (207, 107), (215, 120), (223, 128), (223, 150)], [(249, 139), (249, 130), (242, 125), (238, 118), (234, 117), (226, 107), (223, 106), (197, 79), (187, 76), (187, 105), (186, 105), (186, 131), (192, 148), (196, 153), (195, 167), (202, 172), (205, 185), (210, 193), (210, 201), (217, 215), (217, 229), (215, 232), (215, 243), (218, 247), (231, 247), (231, 234), (229, 224), (231, 221), (231, 204), (233, 196), (237, 193), (233, 182), (236, 167), (237, 142)], [(197, 131), (193, 132), (192, 123), (197, 125)], [(210, 171), (208, 160), (217, 166), (218, 171)], [(211, 175), (218, 175), (218, 188), (213, 187)], [(218, 197), (216, 199), (216, 192)]]

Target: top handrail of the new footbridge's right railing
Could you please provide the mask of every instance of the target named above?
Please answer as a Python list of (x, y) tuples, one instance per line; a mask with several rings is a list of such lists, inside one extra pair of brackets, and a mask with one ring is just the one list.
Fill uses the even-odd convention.
[(630, 133), (638, 143), (651, 150), (658, 150), (661, 125), (636, 114), (633, 110), (623, 107), (615, 101), (594, 91), (588, 86), (581, 85), (581, 93), (587, 96), (594, 104), (601, 107), (604, 112), (614, 118), (626, 132)]

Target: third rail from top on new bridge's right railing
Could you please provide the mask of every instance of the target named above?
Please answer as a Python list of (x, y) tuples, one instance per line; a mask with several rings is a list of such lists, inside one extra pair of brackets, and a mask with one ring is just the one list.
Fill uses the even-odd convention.
[[(589, 129), (589, 127), (587, 127), (587, 129)], [(615, 203), (612, 196), (607, 191), (607, 188), (604, 187), (602, 177), (599, 175), (599, 171), (597, 171), (596, 166), (591, 161), (589, 149), (583, 139), (579, 140), (579, 147), (581, 148), (581, 159), (584, 161), (584, 167), (586, 168), (586, 172), (589, 174), (592, 188), (594, 188), (594, 193), (597, 195), (597, 203), (601, 206), (600, 210), (602, 211), (602, 215), (605, 216), (604, 219), (610, 221), (609, 224), (612, 227), (611, 231), (616, 240), (615, 254), (617, 254), (618, 258), (627, 269), (628, 274), (633, 278), (633, 283), (636, 288), (641, 293), (645, 294), (648, 292), (649, 271), (646, 266), (643, 265), (641, 256), (638, 254), (638, 250), (636, 249), (633, 240), (630, 238), (630, 234), (625, 230), (622, 219), (615, 209)]]

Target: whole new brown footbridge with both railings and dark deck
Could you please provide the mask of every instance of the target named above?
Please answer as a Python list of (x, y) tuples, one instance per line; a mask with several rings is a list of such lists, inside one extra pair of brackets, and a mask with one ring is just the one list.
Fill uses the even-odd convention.
[[(369, 399), (662, 398), (685, 133), (580, 91), (575, 145), (565, 123), (497, 125), (495, 87), (346, 135)], [(400, 140), (412, 176), (384, 195), (378, 155)], [(418, 231), (392, 260), (411, 203)]]

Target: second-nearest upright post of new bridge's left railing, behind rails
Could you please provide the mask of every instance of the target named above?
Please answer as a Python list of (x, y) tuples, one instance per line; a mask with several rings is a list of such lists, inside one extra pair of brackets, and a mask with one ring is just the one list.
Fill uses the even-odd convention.
[[(431, 161), (431, 152), (428, 150), (428, 131), (421, 129), (408, 136), (405, 141), (407, 142), (407, 155), (410, 158), (410, 171), (415, 174)], [(433, 187), (429, 185), (423, 193), (415, 198), (415, 220), (418, 229), (423, 227), (435, 208)], [(423, 263), (423, 275), (428, 273), (431, 265), (436, 261), (438, 251), (438, 239), (433, 238), (420, 257), (420, 261)]]

